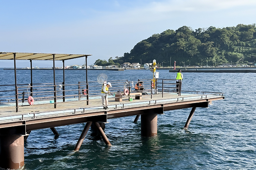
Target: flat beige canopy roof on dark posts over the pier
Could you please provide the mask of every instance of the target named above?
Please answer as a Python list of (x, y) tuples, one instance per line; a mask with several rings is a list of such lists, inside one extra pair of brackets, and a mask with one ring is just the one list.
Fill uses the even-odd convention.
[(0, 52), (0, 59), (15, 59), (19, 60), (67, 60), (80, 57), (91, 56), (91, 54), (51, 54), (51, 53), (17, 53), (17, 52)]

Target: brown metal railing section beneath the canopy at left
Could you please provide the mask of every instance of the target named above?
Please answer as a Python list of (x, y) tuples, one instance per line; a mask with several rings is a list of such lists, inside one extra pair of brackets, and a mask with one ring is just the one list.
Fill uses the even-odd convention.
[[(78, 84), (63, 84), (63, 83), (37, 83), (30, 86), (30, 84), (18, 84), (15, 88), (15, 85), (0, 85), (0, 104), (1, 103), (12, 103), (16, 102), (16, 112), (18, 112), (19, 106), (26, 106), (23, 103), (28, 100), (29, 96), (33, 96), (35, 104), (44, 105), (49, 103), (36, 103), (36, 101), (50, 100), (50, 103), (54, 104), (56, 108), (57, 99), (63, 99), (63, 102), (68, 102), (66, 98), (75, 98), (84, 96), (80, 93), (80, 87), (87, 87), (86, 83)], [(4, 90), (6, 89), (6, 90)], [(88, 91), (88, 88), (85, 89)], [(78, 93), (77, 93), (78, 91)], [(87, 96), (88, 102), (88, 93)], [(22, 102), (22, 104), (20, 104)], [(60, 102), (60, 101), (58, 101)]]

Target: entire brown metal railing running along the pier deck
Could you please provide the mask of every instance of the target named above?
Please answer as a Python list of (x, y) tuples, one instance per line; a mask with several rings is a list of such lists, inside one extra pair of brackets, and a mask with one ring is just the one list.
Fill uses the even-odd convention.
[[(136, 83), (142, 81), (142, 87), (138, 91), (135, 90)], [(129, 90), (129, 100), (133, 97), (132, 93), (142, 93), (142, 95), (162, 94), (164, 97), (167, 93), (176, 93), (181, 96), (181, 81), (178, 83), (176, 79), (160, 79), (157, 78), (155, 84), (152, 79), (137, 79), (131, 80), (108, 80), (111, 82), (110, 88), (111, 94), (115, 96), (116, 93), (122, 93), (123, 89)], [(64, 83), (37, 83), (30, 86), (30, 84), (18, 84), (15, 85), (0, 85), (0, 104), (4, 102), (16, 102), (16, 112), (18, 112), (19, 106), (23, 105), (28, 96), (33, 96), (35, 105), (49, 104), (49, 102), (36, 102), (50, 100), (51, 104), (54, 104), (56, 108), (59, 102), (71, 102), (65, 99), (77, 98), (77, 100), (85, 100), (89, 105), (89, 98), (99, 98), (101, 95), (102, 84), (97, 81), (89, 81), (88, 84), (84, 81), (79, 81), (77, 84), (64, 84)], [(186, 93), (192, 93), (193, 91), (182, 91)], [(212, 92), (193, 92), (193, 93), (212, 93)], [(223, 93), (220, 93), (223, 94)], [(84, 99), (86, 97), (86, 99)], [(58, 99), (63, 99), (62, 101)], [(73, 102), (74, 100), (72, 100)], [(22, 104), (21, 104), (22, 103)]]

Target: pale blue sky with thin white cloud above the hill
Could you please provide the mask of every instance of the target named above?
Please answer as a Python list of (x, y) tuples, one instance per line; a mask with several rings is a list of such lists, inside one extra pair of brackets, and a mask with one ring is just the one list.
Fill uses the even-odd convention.
[[(256, 0), (0, 0), (0, 52), (92, 54), (108, 60), (167, 29), (256, 23)], [(82, 65), (85, 58), (66, 60)], [(32, 66), (52, 67), (52, 61)], [(55, 66), (62, 66), (55, 61)], [(14, 67), (0, 60), (0, 67)], [(17, 61), (17, 67), (30, 67)]]

